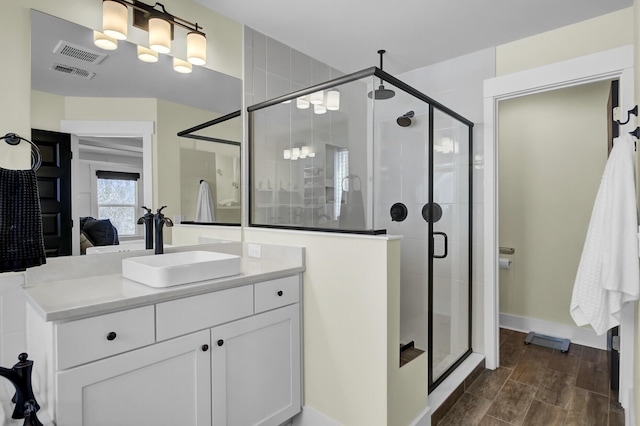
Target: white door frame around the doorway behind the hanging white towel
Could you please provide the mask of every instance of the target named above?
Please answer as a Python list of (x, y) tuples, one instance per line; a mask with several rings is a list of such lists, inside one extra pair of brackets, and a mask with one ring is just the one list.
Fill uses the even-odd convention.
[[(534, 93), (618, 79), (619, 108), (627, 111), (634, 105), (633, 53), (633, 45), (626, 45), (484, 82), (484, 347), (489, 369), (500, 365), (498, 103)], [(635, 123), (629, 123), (621, 126), (620, 132), (634, 128)], [(625, 409), (629, 404), (629, 391), (633, 389), (635, 309), (634, 304), (626, 305), (620, 325), (620, 371), (624, 374), (620, 375), (619, 399)]]

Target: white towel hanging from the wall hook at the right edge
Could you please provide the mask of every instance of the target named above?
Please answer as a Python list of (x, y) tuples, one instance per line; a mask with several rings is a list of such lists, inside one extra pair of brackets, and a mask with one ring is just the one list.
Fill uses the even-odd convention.
[(638, 300), (638, 216), (633, 140), (614, 140), (604, 169), (571, 297), (577, 325), (598, 335), (620, 324), (622, 305)]

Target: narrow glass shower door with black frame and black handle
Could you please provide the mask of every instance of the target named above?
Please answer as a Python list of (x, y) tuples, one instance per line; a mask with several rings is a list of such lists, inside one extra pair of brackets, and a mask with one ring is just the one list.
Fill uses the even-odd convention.
[(430, 108), (429, 391), (471, 353), (471, 127)]

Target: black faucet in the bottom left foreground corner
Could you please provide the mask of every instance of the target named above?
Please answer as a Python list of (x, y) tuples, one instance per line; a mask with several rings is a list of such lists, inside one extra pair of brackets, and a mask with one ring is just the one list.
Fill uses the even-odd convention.
[(18, 355), (19, 362), (12, 368), (0, 367), (0, 376), (7, 378), (16, 388), (11, 402), (16, 404), (12, 419), (24, 419), (23, 426), (42, 426), (36, 415), (40, 405), (33, 395), (31, 387), (31, 370), (33, 361), (28, 361), (29, 355), (21, 353)]

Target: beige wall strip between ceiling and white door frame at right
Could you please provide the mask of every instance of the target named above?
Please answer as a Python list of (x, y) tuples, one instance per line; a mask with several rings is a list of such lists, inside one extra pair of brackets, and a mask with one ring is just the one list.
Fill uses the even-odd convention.
[(496, 75), (510, 74), (633, 43), (627, 8), (496, 47)]

